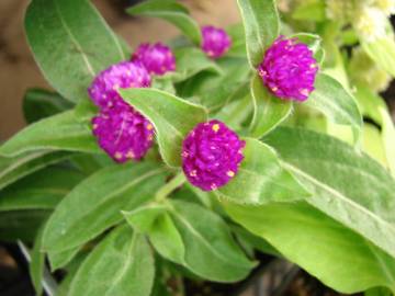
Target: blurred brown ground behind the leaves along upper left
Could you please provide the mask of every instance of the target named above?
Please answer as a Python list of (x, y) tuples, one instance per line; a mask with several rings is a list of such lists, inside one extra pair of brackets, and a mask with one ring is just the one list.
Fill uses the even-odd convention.
[[(27, 88), (50, 89), (29, 49), (23, 18), (30, 0), (0, 0), (0, 141), (21, 129), (22, 100)], [(142, 42), (166, 42), (178, 31), (165, 21), (132, 18), (125, 8), (138, 0), (92, 0), (110, 26), (133, 47)], [(239, 20), (234, 0), (183, 0), (200, 24), (226, 26)]]

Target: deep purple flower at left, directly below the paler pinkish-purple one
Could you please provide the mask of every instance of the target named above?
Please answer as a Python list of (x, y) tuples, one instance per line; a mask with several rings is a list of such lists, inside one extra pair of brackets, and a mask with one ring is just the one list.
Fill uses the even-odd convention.
[(123, 101), (93, 117), (92, 128), (100, 147), (116, 162), (139, 160), (153, 145), (153, 125)]

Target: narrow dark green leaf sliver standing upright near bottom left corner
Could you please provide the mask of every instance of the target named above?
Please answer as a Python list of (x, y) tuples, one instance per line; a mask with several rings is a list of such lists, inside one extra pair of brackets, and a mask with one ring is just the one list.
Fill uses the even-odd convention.
[(31, 262), (29, 265), (29, 273), (32, 278), (34, 291), (36, 295), (43, 293), (43, 274), (45, 266), (45, 254), (41, 251), (43, 239), (43, 229), (41, 229), (34, 240), (33, 250), (31, 252)]

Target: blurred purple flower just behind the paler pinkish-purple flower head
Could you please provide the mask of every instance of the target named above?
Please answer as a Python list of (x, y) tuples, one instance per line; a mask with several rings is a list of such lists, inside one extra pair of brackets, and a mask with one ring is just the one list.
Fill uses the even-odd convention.
[(132, 55), (132, 60), (139, 60), (154, 75), (163, 75), (176, 70), (176, 58), (170, 47), (161, 44), (142, 44)]

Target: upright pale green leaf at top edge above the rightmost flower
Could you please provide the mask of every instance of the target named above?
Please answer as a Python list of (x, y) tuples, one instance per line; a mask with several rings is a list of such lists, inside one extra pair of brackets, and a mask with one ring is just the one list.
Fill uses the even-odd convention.
[(247, 56), (256, 68), (264, 50), (280, 33), (279, 13), (273, 0), (237, 0), (246, 32)]

